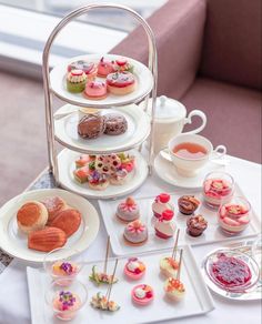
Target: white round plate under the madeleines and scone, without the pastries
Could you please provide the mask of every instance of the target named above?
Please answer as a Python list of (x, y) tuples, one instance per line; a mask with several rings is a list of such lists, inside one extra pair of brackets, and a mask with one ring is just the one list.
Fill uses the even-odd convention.
[[(99, 215), (95, 209), (85, 199), (61, 189), (33, 190), (17, 195), (7, 202), (0, 210), (0, 247), (8, 254), (29, 262), (43, 262), (44, 252), (28, 249), (27, 235), (21, 233), (17, 225), (17, 211), (27, 201), (42, 201), (48, 196), (61, 196), (70, 206), (78, 209), (82, 214), (79, 230), (72, 234), (64, 247), (71, 249), (71, 255), (88, 249), (99, 231)], [(71, 255), (64, 255), (68, 257)], [(58, 257), (60, 254), (58, 252)]]

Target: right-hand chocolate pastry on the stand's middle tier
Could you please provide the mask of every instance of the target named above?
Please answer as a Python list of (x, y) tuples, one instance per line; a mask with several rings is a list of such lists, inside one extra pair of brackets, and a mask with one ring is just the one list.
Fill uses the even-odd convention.
[(127, 119), (122, 114), (108, 113), (105, 119), (104, 134), (108, 135), (120, 135), (123, 134), (128, 129)]

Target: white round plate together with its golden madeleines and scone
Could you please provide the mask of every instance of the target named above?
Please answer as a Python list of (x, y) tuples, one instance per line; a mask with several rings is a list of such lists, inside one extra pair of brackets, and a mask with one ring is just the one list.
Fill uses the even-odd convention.
[(87, 250), (99, 225), (98, 212), (81, 196), (60, 189), (28, 191), (0, 210), (0, 247), (20, 260), (43, 262), (46, 253), (64, 246), (70, 247), (67, 257)]

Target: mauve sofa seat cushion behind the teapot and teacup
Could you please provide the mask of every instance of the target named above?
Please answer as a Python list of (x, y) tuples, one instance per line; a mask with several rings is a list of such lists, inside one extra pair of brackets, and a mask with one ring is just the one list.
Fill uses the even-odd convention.
[(202, 134), (213, 145), (224, 144), (229, 154), (261, 163), (259, 91), (196, 79), (181, 101), (188, 111), (198, 108), (206, 113), (208, 124)]

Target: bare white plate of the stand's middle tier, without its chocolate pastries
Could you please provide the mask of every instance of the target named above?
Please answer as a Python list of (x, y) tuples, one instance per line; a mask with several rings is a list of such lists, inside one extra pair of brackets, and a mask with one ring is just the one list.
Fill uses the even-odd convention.
[(135, 104), (112, 108), (110, 111), (103, 110), (101, 113), (122, 114), (128, 121), (127, 131), (120, 135), (102, 134), (97, 139), (82, 139), (78, 134), (80, 115), (78, 112), (74, 112), (61, 119), (54, 119), (56, 139), (71, 150), (92, 154), (105, 154), (128, 151), (142, 143), (150, 133), (150, 118)]

